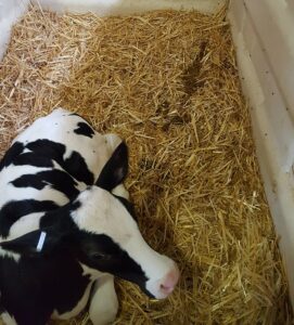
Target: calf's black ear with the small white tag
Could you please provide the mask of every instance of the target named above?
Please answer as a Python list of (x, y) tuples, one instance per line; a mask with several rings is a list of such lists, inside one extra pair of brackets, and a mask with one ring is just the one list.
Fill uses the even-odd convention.
[(36, 230), (12, 240), (2, 242), (0, 247), (23, 256), (37, 256), (56, 249), (61, 239), (62, 236), (49, 227), (47, 230)]

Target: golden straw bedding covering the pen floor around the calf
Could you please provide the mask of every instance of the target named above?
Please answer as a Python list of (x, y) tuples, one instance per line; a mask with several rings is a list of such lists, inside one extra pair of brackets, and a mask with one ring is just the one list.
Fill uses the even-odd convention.
[(127, 186), (140, 229), (182, 276), (164, 301), (117, 282), (115, 324), (292, 321), (223, 17), (100, 20), (31, 9), (0, 66), (2, 148), (60, 102), (130, 147)]

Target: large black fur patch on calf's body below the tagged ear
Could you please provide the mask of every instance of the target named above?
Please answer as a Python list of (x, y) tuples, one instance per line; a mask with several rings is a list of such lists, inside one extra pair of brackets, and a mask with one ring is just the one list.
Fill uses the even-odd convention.
[(71, 311), (89, 283), (78, 262), (63, 250), (18, 263), (0, 258), (1, 303), (17, 324), (44, 325), (54, 310)]

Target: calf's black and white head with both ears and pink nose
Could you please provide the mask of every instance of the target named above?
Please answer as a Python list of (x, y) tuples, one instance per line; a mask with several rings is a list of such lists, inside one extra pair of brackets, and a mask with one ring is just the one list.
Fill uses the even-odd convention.
[(151, 297), (166, 298), (179, 278), (176, 263), (145, 243), (130, 203), (111, 192), (124, 181), (127, 170), (128, 152), (122, 143), (95, 185), (44, 216), (51, 218), (50, 225), (2, 243), (2, 248), (41, 257), (66, 247), (93, 276), (97, 271), (111, 273), (138, 284)]

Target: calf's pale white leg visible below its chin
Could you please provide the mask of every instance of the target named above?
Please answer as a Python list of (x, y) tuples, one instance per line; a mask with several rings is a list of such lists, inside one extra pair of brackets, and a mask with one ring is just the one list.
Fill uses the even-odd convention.
[(90, 300), (89, 315), (94, 325), (106, 325), (115, 320), (118, 300), (113, 275), (103, 275), (95, 281)]

